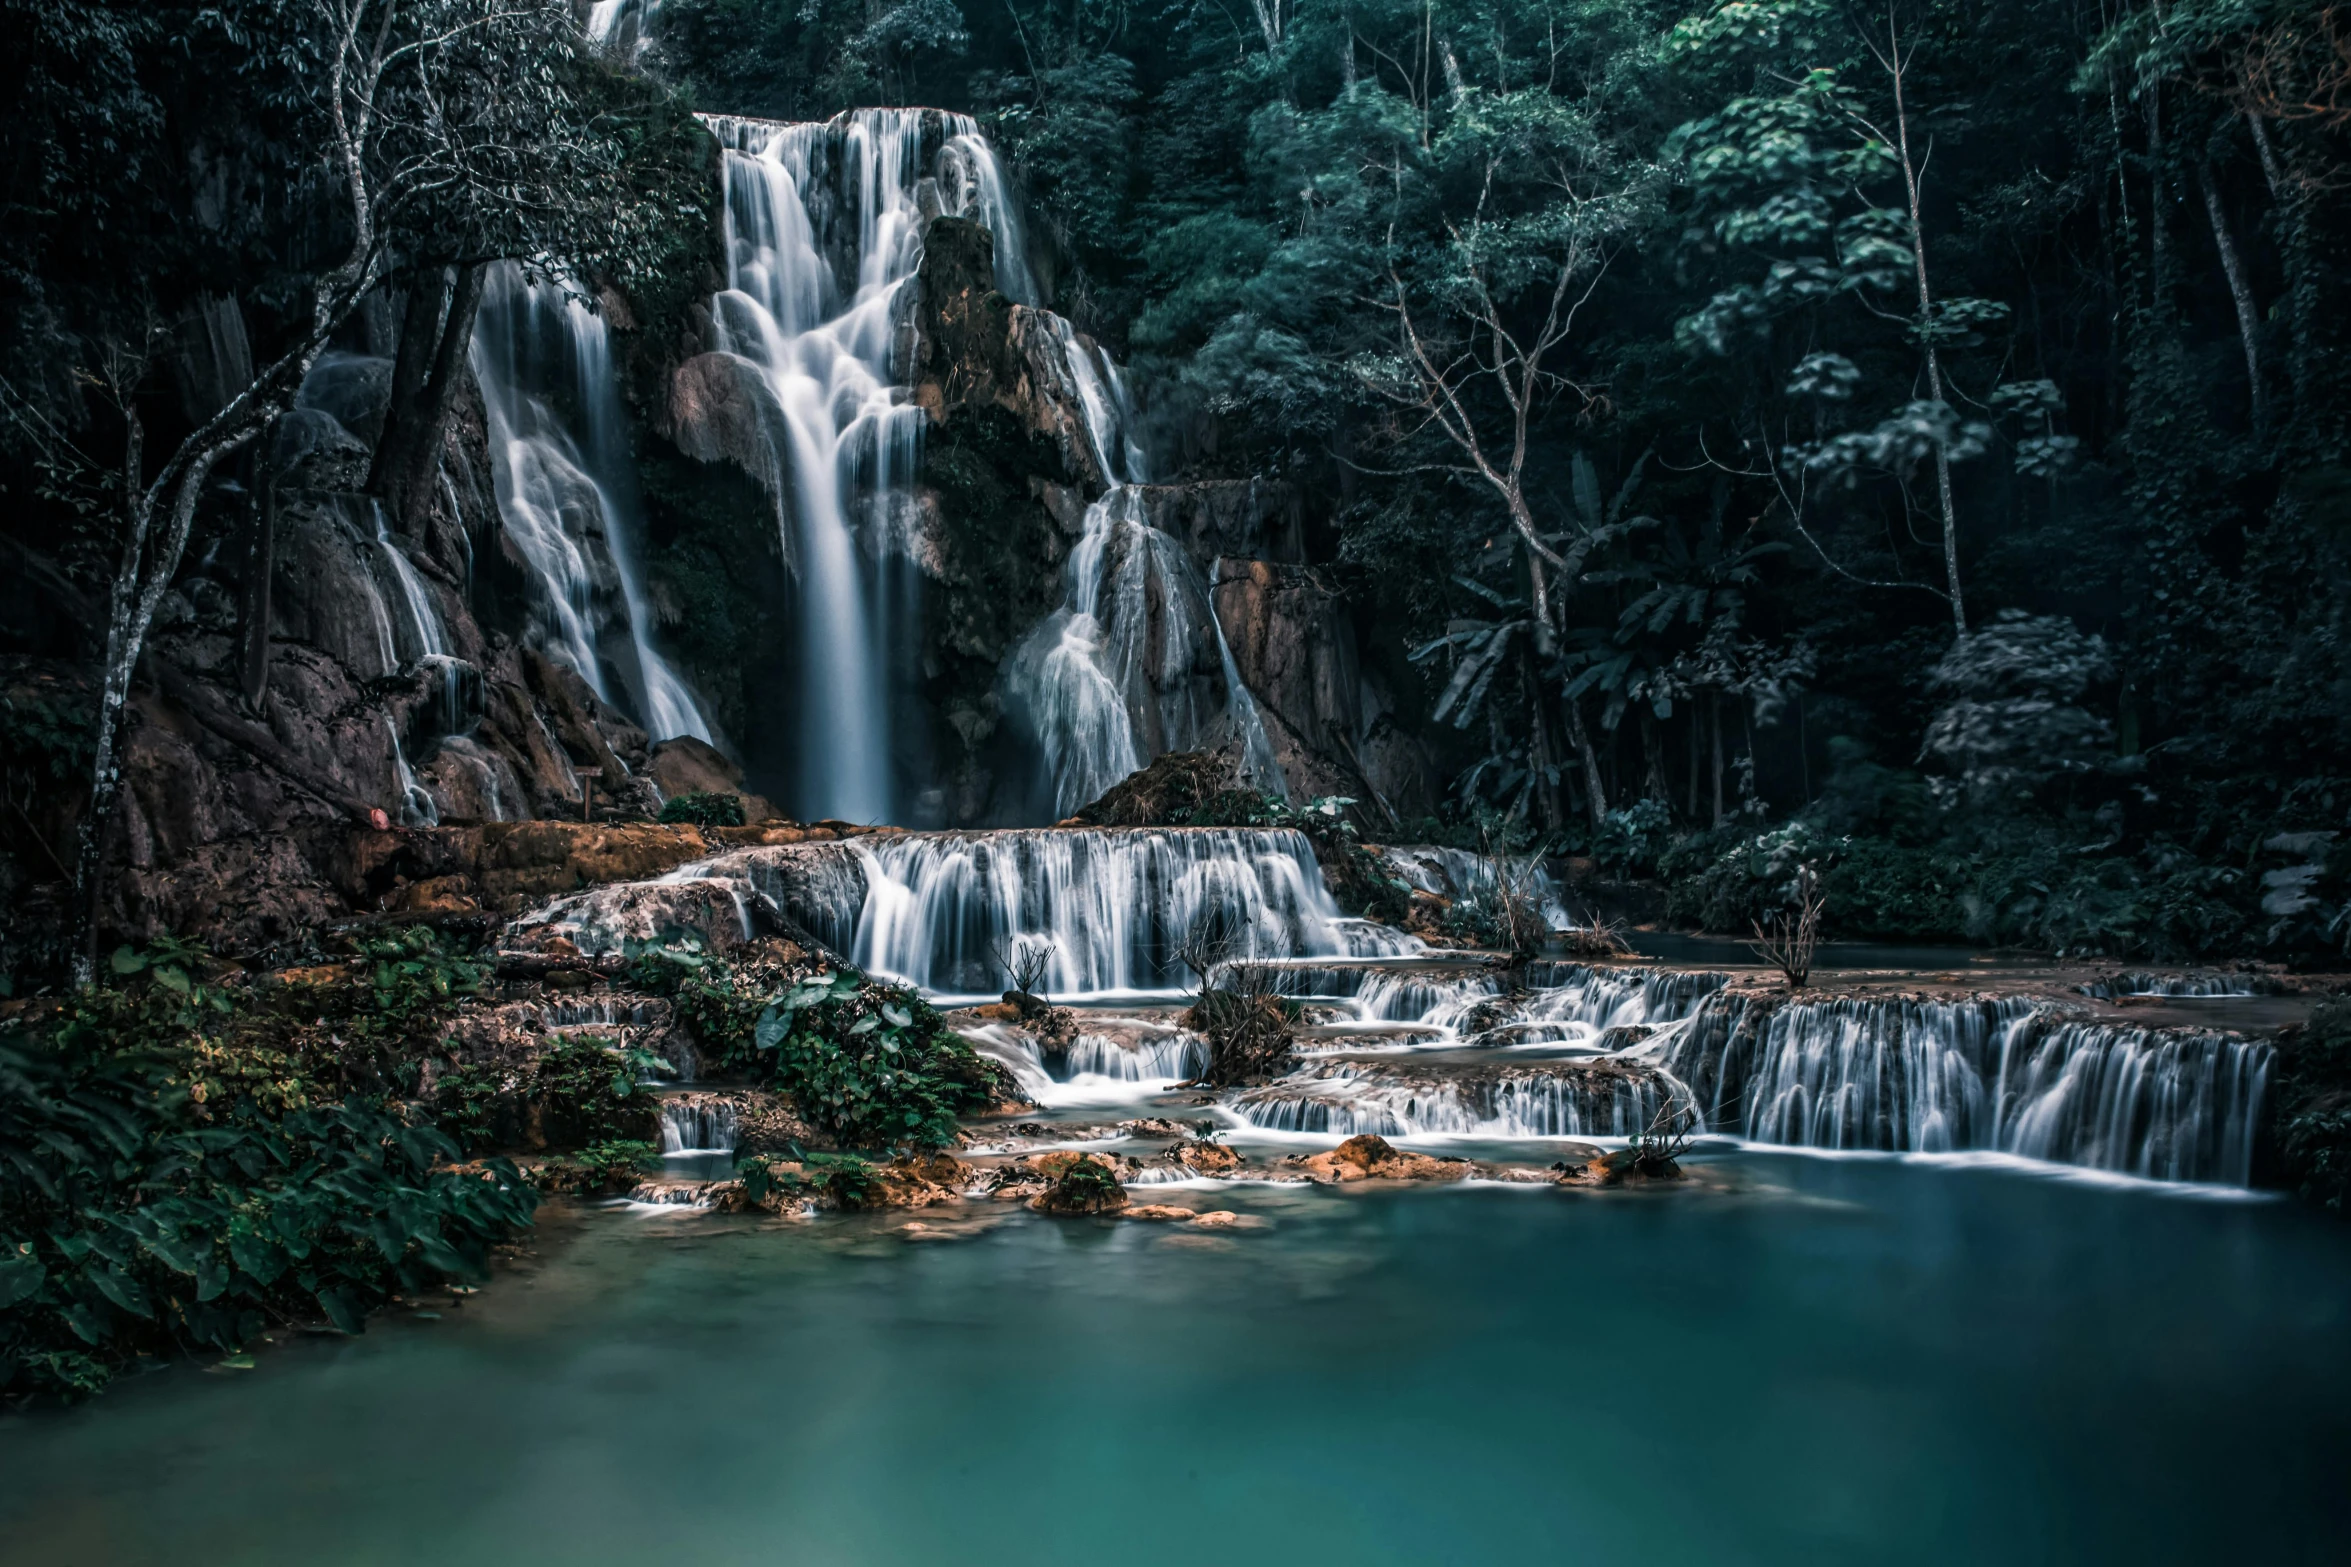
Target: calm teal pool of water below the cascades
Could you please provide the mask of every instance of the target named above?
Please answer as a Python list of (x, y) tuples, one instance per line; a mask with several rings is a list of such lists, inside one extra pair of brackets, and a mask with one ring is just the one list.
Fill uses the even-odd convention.
[[(0, 1419), (7, 1560), (2283, 1562), (2351, 1226), (2001, 1168), (555, 1215), (463, 1306)], [(907, 1231), (907, 1224), (924, 1224)]]

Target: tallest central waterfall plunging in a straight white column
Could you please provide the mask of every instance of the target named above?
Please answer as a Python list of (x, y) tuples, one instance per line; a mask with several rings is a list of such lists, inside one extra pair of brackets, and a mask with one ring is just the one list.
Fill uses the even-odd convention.
[(799, 594), (797, 808), (879, 822), (891, 815), (889, 651), (915, 594), (903, 491), (924, 425), (893, 376), (903, 296), (938, 211), (985, 223), (999, 284), (1027, 289), (1018, 221), (966, 115), (705, 122), (724, 148), (726, 197), (726, 289), (710, 315), (717, 348), (766, 390), (764, 479)]

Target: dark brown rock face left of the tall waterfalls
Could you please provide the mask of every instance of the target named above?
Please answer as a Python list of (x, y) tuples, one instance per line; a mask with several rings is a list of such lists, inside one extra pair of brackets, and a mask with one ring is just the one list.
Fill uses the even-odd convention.
[[(407, 874), (386, 904), (388, 888), (353, 867), (353, 834), (658, 808), (647, 735), (576, 670), (520, 641), (529, 616), (501, 557), (470, 383), (449, 482), (414, 536), (386, 529), (357, 491), (369, 453), (353, 432), (381, 409), (376, 369), (388, 374), (353, 357), (306, 383), (273, 449), (270, 526), (259, 529), (261, 507), (207, 524), (230, 529), (226, 547), (193, 547), (158, 613), (153, 679), (134, 688), (122, 738), (101, 942), (172, 930), (254, 954), (379, 907), (463, 914), (482, 888), (418, 886), (435, 874)], [(45, 583), (56, 627), (40, 653), (0, 667), (0, 686), (12, 705), (40, 693), (87, 712), (82, 648), (103, 606), (38, 557), (19, 564)], [(49, 794), (42, 839), (56, 853), (19, 862), (19, 883), (0, 888), (0, 949), (16, 970), (61, 956), (61, 860), (80, 792)], [(360, 860), (369, 853), (381, 860)]]

